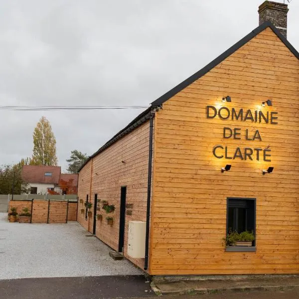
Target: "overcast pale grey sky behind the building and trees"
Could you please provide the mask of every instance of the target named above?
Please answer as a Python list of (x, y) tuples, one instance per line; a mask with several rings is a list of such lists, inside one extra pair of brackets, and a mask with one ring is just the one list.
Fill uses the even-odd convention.
[[(257, 27), (262, 2), (1, 0), (0, 103), (149, 105)], [(299, 0), (289, 8), (299, 49)], [(92, 154), (141, 111), (0, 111), (0, 164), (31, 156), (41, 116), (66, 169), (71, 150)]]

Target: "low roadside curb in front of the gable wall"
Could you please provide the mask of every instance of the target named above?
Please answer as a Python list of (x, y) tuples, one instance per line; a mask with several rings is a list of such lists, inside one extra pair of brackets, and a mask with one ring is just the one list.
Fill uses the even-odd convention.
[[(183, 285), (183, 282), (181, 282)], [(201, 294), (217, 294), (222, 292), (246, 292), (246, 291), (288, 291), (299, 287), (299, 285), (275, 285), (275, 286), (238, 286), (228, 288), (174, 288), (173, 290), (162, 290), (154, 283), (150, 284), (156, 295), (201, 295)]]

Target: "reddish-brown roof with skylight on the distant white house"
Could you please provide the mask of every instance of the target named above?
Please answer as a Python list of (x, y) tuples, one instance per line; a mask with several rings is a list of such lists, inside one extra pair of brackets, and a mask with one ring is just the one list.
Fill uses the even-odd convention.
[(58, 184), (60, 166), (24, 165), (22, 178), (27, 183)]

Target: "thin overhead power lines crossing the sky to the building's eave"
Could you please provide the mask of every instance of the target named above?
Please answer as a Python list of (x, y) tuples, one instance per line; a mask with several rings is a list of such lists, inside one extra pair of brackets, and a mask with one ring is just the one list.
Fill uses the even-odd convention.
[(0, 106), (0, 110), (41, 111), (41, 110), (104, 110), (141, 109), (149, 106)]

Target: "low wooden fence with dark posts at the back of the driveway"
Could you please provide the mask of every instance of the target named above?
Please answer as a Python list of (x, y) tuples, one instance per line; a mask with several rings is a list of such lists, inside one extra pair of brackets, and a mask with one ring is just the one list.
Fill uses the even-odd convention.
[(31, 223), (67, 223), (77, 220), (77, 201), (65, 200), (10, 200), (8, 210), (15, 207), (18, 214), (24, 207), (31, 213)]

